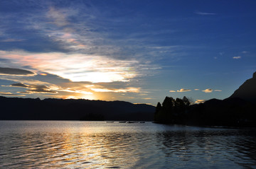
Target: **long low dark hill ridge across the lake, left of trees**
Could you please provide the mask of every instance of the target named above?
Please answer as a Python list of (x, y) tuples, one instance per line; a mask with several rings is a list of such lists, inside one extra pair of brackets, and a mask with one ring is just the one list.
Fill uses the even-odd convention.
[(154, 119), (155, 107), (124, 101), (0, 96), (0, 120), (144, 120)]

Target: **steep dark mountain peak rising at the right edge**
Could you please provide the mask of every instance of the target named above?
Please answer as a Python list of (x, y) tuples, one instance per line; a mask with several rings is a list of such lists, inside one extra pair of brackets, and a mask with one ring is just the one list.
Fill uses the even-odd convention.
[(243, 83), (230, 98), (241, 98), (243, 100), (256, 102), (256, 72), (252, 78)]

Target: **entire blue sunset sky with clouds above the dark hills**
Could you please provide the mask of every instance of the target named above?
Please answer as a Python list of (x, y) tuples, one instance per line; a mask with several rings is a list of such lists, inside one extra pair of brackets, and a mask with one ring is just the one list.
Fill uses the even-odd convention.
[(0, 95), (225, 99), (256, 71), (256, 1), (0, 1)]

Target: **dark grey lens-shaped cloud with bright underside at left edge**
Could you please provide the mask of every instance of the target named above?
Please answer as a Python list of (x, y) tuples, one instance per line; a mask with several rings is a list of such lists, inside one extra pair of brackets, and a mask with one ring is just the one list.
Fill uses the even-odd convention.
[(8, 76), (35, 76), (36, 74), (32, 71), (27, 71), (24, 69), (14, 69), (7, 67), (0, 67), (0, 75)]

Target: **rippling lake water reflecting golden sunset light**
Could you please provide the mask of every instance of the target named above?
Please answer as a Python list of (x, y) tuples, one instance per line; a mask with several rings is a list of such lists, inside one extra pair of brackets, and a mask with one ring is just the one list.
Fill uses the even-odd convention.
[(256, 168), (256, 130), (0, 121), (0, 168)]

